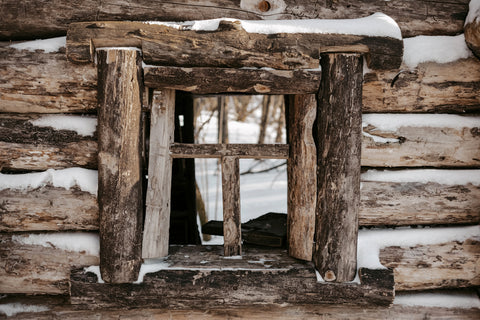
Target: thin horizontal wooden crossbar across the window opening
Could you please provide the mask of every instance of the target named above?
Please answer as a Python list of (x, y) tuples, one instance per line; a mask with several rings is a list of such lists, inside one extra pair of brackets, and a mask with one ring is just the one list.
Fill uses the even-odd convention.
[(287, 159), (286, 144), (190, 144), (175, 143), (170, 146), (174, 158), (238, 158)]

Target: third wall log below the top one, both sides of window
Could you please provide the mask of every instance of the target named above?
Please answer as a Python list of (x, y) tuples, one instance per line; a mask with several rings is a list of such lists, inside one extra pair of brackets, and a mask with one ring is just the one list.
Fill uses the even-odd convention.
[[(450, 172), (445, 172), (449, 174)], [(55, 188), (0, 190), (0, 232), (98, 230), (96, 196)], [(361, 226), (480, 223), (480, 186), (363, 181)]]

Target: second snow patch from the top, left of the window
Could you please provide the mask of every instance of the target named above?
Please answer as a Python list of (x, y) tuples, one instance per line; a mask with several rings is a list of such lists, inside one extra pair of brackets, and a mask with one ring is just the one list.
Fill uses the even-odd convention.
[(93, 136), (97, 130), (97, 118), (92, 116), (45, 115), (29, 121), (34, 126), (55, 130), (71, 130), (81, 136)]

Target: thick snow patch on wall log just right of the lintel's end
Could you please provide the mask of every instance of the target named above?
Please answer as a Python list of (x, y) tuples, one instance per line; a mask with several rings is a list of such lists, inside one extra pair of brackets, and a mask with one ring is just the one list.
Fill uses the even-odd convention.
[(448, 63), (472, 56), (465, 36), (417, 36), (403, 40), (403, 62), (415, 68), (422, 62)]

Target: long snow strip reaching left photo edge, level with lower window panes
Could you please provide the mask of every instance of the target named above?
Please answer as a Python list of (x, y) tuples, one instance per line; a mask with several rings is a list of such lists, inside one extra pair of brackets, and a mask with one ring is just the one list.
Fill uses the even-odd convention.
[(96, 196), (98, 190), (98, 171), (84, 168), (68, 168), (61, 170), (48, 169), (44, 172), (25, 174), (0, 173), (0, 190), (28, 190), (46, 185), (67, 190), (78, 186), (80, 190)]

